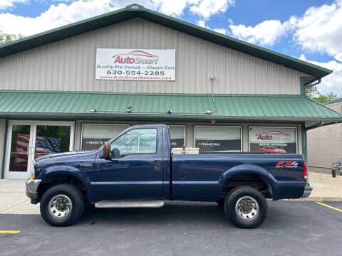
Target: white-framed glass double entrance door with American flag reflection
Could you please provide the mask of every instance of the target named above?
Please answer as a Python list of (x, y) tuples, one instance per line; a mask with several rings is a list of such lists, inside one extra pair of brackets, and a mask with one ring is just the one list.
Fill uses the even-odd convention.
[(73, 150), (73, 122), (9, 122), (6, 178), (28, 178), (33, 159)]

